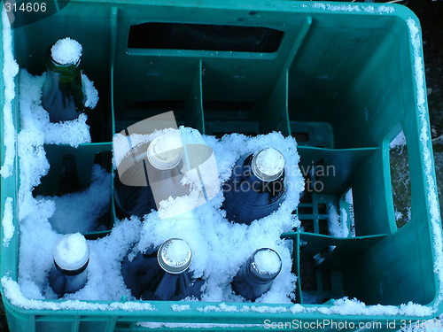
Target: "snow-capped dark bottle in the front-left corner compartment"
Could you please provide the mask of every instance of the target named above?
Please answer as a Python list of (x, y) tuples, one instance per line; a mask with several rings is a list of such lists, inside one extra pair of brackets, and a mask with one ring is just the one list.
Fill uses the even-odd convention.
[(89, 246), (80, 233), (61, 236), (53, 249), (54, 266), (49, 274), (51, 289), (63, 297), (82, 290), (88, 281)]

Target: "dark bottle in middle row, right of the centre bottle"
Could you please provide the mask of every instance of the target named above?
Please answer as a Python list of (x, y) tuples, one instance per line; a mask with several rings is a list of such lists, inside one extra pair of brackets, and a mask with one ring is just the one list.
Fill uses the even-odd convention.
[(237, 160), (222, 187), (228, 220), (251, 224), (266, 217), (284, 201), (284, 157), (273, 148)]

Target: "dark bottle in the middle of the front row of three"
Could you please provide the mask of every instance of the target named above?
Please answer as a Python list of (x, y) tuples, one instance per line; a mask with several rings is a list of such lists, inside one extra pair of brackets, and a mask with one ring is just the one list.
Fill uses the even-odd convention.
[(159, 248), (148, 248), (121, 263), (121, 274), (134, 297), (143, 300), (180, 300), (200, 297), (203, 280), (192, 280), (188, 268), (190, 245), (182, 239), (167, 240)]

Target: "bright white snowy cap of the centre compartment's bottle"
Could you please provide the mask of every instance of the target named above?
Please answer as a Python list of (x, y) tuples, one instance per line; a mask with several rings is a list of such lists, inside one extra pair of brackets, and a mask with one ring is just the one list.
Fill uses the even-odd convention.
[(167, 170), (178, 165), (183, 157), (183, 143), (180, 135), (160, 135), (152, 140), (147, 157), (152, 166)]

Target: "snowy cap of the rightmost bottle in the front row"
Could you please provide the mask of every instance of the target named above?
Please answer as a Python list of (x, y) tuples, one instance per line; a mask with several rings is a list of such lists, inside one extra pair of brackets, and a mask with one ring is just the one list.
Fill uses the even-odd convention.
[(282, 259), (278, 253), (269, 248), (254, 251), (251, 256), (253, 273), (262, 279), (274, 279), (282, 269)]

